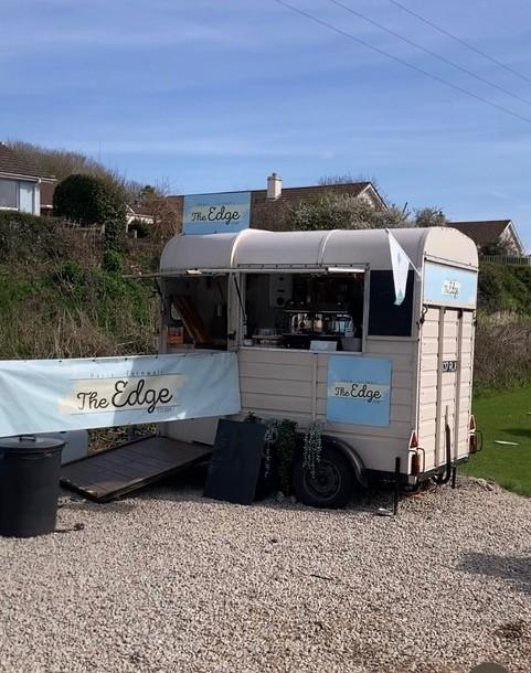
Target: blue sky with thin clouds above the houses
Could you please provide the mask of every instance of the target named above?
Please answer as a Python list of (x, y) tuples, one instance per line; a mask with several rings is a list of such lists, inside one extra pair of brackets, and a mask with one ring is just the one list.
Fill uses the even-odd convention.
[[(389, 0), (352, 9), (497, 83), (443, 64), (329, 0), (288, 0), (493, 104), (274, 0), (0, 0), (0, 138), (75, 149), (172, 193), (375, 177), (392, 202), (511, 217), (531, 247), (531, 83)], [(531, 79), (529, 0), (401, 0)]]

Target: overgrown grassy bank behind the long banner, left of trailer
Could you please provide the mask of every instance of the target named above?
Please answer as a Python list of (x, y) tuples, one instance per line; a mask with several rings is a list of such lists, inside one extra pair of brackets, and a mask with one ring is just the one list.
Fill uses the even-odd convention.
[(158, 252), (126, 242), (114, 270), (103, 242), (54, 220), (0, 214), (0, 359), (75, 357), (156, 350), (158, 300), (120, 261), (152, 267)]

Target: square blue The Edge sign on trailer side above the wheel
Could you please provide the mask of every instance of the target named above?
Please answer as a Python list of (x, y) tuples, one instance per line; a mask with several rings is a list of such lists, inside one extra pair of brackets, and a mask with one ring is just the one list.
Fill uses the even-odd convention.
[(330, 355), (327, 420), (389, 426), (391, 372), (390, 360), (360, 355)]

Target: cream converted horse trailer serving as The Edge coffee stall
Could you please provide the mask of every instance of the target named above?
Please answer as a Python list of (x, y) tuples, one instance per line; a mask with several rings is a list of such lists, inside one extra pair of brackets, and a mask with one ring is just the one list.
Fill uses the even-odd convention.
[[(236, 352), (236, 420), (322, 424), (317, 468), (294, 468), (307, 504), (340, 506), (376, 480), (446, 482), (476, 450), (476, 246), (450, 227), (392, 234), (411, 261), (400, 303), (384, 229), (178, 235), (161, 256), (160, 351)], [(212, 445), (217, 421), (160, 431)]]

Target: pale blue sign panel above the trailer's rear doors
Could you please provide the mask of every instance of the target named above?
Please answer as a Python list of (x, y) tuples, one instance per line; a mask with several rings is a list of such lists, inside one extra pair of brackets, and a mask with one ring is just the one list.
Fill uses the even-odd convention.
[(424, 303), (475, 307), (478, 293), (476, 271), (426, 261), (424, 266)]

